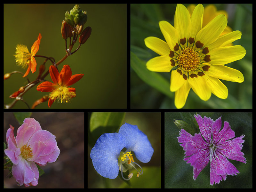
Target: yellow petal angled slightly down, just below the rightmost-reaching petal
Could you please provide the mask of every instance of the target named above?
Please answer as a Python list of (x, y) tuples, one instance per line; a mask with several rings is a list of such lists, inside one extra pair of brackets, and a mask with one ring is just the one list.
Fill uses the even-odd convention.
[(244, 76), (240, 71), (224, 65), (208, 65), (207, 63), (203, 63), (200, 69), (204, 71), (206, 75), (212, 76), (218, 79), (223, 79), (226, 81), (233, 81), (238, 83), (244, 82)]

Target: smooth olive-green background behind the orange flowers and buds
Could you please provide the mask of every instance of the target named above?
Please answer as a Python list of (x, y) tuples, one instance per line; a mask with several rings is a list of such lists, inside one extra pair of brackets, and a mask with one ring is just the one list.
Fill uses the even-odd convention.
[[(75, 4), (4, 4), (4, 74), (26, 69), (16, 65), (15, 48), (25, 44), (30, 51), (32, 44), (41, 33), (42, 40), (37, 55), (53, 57), (59, 61), (65, 52), (65, 40), (61, 36), (61, 23), (65, 12)], [(126, 108), (126, 4), (79, 4), (87, 11), (88, 20), (84, 25), (92, 27), (92, 34), (80, 49), (59, 65), (67, 64), (72, 74), (83, 73), (84, 77), (71, 87), (76, 88), (76, 98), (71, 102), (53, 103), (51, 108)], [(69, 41), (68, 41), (69, 42)], [(79, 42), (74, 45), (75, 51)], [(36, 57), (36, 72), (28, 75), (33, 81), (44, 58)], [(51, 62), (47, 61), (46, 69)], [(52, 81), (50, 75), (45, 78)], [(25, 86), (27, 81), (20, 74), (13, 74), (4, 81), (4, 103), (13, 99), (9, 96)], [(23, 99), (30, 105), (47, 93), (30, 89)], [(27, 108), (19, 101), (14, 108)], [(48, 108), (45, 102), (37, 108)]]

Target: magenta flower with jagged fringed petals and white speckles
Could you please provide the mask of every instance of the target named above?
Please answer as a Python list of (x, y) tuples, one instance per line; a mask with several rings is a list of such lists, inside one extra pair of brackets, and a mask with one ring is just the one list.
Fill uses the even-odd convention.
[[(201, 133), (192, 136), (184, 129), (180, 130), (178, 142), (185, 151), (184, 161), (193, 166), (196, 177), (210, 161), (210, 183), (213, 185), (226, 180), (227, 175), (237, 175), (239, 171), (227, 158), (246, 163), (244, 153), (241, 152), (244, 143), (244, 135), (235, 137), (235, 132), (230, 128), (227, 121), (221, 129), (221, 117), (213, 121), (210, 117), (194, 115)], [(203, 135), (203, 137), (201, 136)], [(233, 139), (232, 139), (233, 138)]]

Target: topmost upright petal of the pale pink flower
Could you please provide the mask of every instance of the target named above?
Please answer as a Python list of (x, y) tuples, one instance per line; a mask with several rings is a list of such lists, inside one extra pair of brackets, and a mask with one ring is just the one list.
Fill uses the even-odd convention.
[(18, 148), (27, 144), (30, 137), (35, 132), (42, 129), (40, 124), (34, 118), (26, 118), (23, 122), (24, 123), (18, 128), (16, 136)]

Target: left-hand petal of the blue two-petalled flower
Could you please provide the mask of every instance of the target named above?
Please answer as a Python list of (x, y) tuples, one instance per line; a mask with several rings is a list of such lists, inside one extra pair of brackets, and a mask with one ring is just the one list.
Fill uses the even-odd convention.
[(104, 133), (96, 141), (90, 157), (95, 170), (103, 177), (115, 179), (118, 175), (117, 157), (125, 146), (125, 138), (119, 133)]

